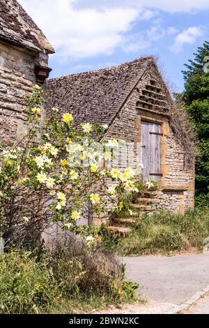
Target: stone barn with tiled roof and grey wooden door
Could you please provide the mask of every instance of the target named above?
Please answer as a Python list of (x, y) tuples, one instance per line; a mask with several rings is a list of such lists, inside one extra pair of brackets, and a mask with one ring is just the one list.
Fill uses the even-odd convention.
[(48, 91), (48, 109), (70, 112), (77, 125), (107, 124), (105, 138), (120, 138), (134, 148), (140, 144), (132, 167), (142, 163), (143, 180), (157, 181), (158, 188), (144, 195), (151, 206), (143, 198), (136, 207), (180, 213), (194, 207), (194, 156), (187, 156), (192, 143), (153, 57), (55, 78), (48, 81)]

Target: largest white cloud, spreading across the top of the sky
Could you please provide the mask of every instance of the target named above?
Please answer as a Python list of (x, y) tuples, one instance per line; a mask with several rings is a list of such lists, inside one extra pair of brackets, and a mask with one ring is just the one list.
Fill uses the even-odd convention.
[[(162, 28), (157, 10), (169, 13), (209, 8), (209, 0), (18, 0), (55, 47), (60, 61), (113, 54), (118, 47), (137, 52), (163, 36), (178, 33)], [(150, 29), (131, 34), (135, 22), (150, 20)], [(183, 31), (184, 32), (184, 31)], [(182, 33), (183, 33), (182, 32)], [(186, 33), (186, 32), (185, 32)], [(171, 49), (192, 43), (192, 32), (177, 36)], [(180, 33), (181, 34), (181, 33)], [(179, 35), (180, 35), (179, 34)]]

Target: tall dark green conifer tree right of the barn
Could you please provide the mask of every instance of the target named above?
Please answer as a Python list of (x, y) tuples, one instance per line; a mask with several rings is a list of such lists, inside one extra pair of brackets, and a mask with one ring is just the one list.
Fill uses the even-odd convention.
[[(199, 137), (199, 156), (196, 161), (196, 193), (209, 195), (209, 42), (205, 41), (185, 64), (183, 71), (186, 110)], [(202, 197), (202, 195), (201, 195)]]

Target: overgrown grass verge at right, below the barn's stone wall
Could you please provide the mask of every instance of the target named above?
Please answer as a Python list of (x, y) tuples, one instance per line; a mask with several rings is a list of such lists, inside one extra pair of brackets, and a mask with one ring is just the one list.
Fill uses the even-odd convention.
[(206, 237), (209, 237), (209, 210), (201, 207), (185, 214), (162, 211), (144, 215), (136, 220), (128, 237), (111, 246), (123, 256), (202, 250)]

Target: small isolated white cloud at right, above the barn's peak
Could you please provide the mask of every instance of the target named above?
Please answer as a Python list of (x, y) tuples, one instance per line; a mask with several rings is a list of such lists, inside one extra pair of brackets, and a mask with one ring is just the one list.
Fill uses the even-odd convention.
[(189, 27), (184, 31), (178, 33), (176, 38), (174, 39), (173, 45), (169, 48), (171, 51), (179, 53), (183, 50), (183, 46), (185, 44), (192, 45), (196, 38), (203, 35), (203, 31), (200, 27)]

